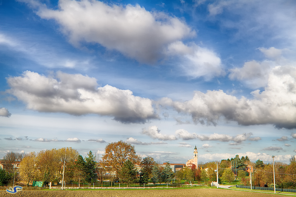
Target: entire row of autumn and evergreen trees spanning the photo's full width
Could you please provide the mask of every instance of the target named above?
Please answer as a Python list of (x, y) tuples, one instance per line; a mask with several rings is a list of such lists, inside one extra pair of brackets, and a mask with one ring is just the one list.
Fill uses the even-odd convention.
[[(170, 183), (177, 178), (176, 182), (181, 180), (209, 180), (216, 181), (216, 172), (218, 164), (219, 181), (231, 183), (238, 181), (242, 185), (250, 185), (249, 172), (247, 167), (252, 166), (252, 185), (273, 187), (273, 164), (264, 164), (257, 160), (251, 162), (247, 156), (239, 158), (223, 159), (207, 163), (199, 163), (199, 168), (195, 165), (183, 167), (174, 173), (167, 163), (160, 167), (152, 157), (141, 158), (136, 154), (134, 146), (123, 141), (109, 143), (105, 147), (105, 154), (102, 158), (94, 155), (91, 151), (85, 158), (79, 155), (73, 148), (60, 148), (44, 150), (38, 153), (20, 154), (9, 152), (1, 159), (4, 169), (0, 169), (0, 186), (7, 185), (9, 181), (20, 180), (27, 185), (33, 181), (42, 181), (44, 185), (52, 182), (58, 185), (62, 180), (62, 171), (65, 161), (64, 180), (68, 183), (97, 183), (101, 185), (104, 180), (109, 180), (112, 184), (115, 182), (124, 182), (128, 185), (139, 183), (139, 185), (153, 183)], [(20, 168), (15, 172), (14, 162), (20, 162)], [(292, 156), (289, 164), (275, 162), (275, 180), (278, 188), (296, 188), (296, 161)], [(239, 184), (239, 183), (238, 183)]]

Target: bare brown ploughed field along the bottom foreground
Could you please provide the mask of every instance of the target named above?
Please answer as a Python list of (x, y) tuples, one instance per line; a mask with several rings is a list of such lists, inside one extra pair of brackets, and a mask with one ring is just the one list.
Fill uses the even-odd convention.
[(42, 190), (23, 190), (15, 194), (7, 193), (1, 190), (0, 196), (3, 197), (228, 197), (228, 196), (244, 196), (244, 197), (271, 197), (274, 194), (253, 193), (236, 190), (223, 189), (175, 189), (175, 190), (94, 190), (94, 191), (42, 191)]

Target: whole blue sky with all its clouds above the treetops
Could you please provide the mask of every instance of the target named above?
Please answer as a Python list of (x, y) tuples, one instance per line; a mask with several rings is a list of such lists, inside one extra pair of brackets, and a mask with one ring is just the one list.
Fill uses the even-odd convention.
[(123, 140), (185, 163), (296, 153), (294, 1), (3, 0), (0, 157)]

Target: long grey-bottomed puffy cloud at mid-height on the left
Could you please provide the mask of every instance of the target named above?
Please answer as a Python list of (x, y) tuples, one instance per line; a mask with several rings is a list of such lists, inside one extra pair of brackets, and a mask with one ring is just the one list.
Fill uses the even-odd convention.
[[(36, 83), (38, 82), (38, 83)], [(56, 78), (25, 71), (8, 77), (8, 93), (23, 101), (28, 109), (73, 115), (114, 116), (123, 123), (144, 123), (157, 119), (150, 99), (134, 96), (130, 90), (110, 85), (96, 88), (94, 77), (57, 72)]]

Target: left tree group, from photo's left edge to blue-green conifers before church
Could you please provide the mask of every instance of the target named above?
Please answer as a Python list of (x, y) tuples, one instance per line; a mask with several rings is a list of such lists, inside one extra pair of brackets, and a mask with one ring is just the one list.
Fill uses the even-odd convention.
[[(11, 155), (17, 156), (8, 159)], [(13, 163), (20, 162), (20, 167), (15, 172)], [(159, 167), (152, 157), (141, 158), (136, 155), (136, 150), (131, 144), (123, 141), (109, 143), (105, 147), (105, 154), (99, 159), (91, 151), (85, 158), (79, 155), (73, 148), (60, 148), (19, 154), (9, 152), (1, 163), (5, 163), (4, 169), (0, 170), (0, 185), (7, 185), (15, 173), (15, 181), (25, 182), (26, 185), (33, 181), (41, 181), (43, 185), (58, 185), (63, 176), (68, 183), (99, 182), (109, 180), (112, 183), (124, 182), (147, 184), (151, 179), (152, 183), (169, 183), (173, 180), (174, 172), (169, 163), (165, 167)], [(5, 179), (5, 180), (1, 180)]]

